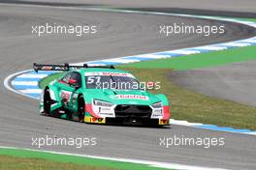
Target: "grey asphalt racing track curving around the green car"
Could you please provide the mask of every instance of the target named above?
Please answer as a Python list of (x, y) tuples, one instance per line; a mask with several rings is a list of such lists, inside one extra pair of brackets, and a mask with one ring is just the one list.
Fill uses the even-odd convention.
[[(99, 34), (45, 36), (31, 34), (31, 25), (44, 22), (89, 23), (100, 26)], [(224, 36), (157, 34), (159, 24), (225, 24)], [(253, 30), (239, 24), (150, 14), (113, 14), (77, 10), (0, 5), (0, 80), (16, 71), (31, 68), (33, 62), (64, 63), (112, 58), (155, 51), (228, 42), (250, 37)], [(181, 39), (182, 37), (182, 39)], [(255, 169), (254, 136), (216, 132), (197, 128), (135, 128), (84, 125), (39, 116), (38, 101), (0, 89), (0, 145), (33, 148), (32, 137), (97, 137), (96, 147), (44, 147), (42, 149), (87, 154), (175, 162), (230, 169)], [(159, 146), (159, 137), (224, 137), (224, 147)]]

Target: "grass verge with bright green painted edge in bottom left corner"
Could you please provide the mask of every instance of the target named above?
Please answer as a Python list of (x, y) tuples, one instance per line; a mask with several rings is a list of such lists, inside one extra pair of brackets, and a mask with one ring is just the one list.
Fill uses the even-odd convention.
[(0, 170), (164, 170), (139, 163), (0, 148)]

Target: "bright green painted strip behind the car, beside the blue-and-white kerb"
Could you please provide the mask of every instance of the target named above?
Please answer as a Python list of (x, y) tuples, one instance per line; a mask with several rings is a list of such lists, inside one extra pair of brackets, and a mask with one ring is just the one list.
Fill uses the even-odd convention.
[(124, 68), (192, 70), (256, 60), (256, 45), (121, 65)]

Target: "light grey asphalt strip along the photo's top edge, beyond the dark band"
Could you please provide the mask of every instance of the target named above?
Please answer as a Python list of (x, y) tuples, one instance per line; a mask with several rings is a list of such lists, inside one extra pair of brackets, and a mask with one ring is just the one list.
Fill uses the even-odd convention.
[[(186, 13), (188, 9), (191, 10), (205, 10), (205, 11), (217, 11), (219, 12), (236, 12), (236, 13), (256, 13), (255, 1), (253, 0), (133, 0), (133, 1), (119, 1), (119, 0), (1, 0), (7, 3), (17, 3), (30, 1), (46, 4), (57, 3), (62, 5), (94, 5), (94, 6), (107, 6), (115, 8), (146, 8), (146, 9), (180, 9), (183, 13)], [(182, 10), (187, 9), (187, 10)], [(215, 13), (216, 14), (216, 13)]]

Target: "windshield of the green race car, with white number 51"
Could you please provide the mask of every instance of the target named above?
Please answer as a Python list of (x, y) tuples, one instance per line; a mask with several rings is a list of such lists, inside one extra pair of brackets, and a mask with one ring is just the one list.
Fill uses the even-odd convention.
[(140, 82), (129, 76), (89, 75), (85, 81), (87, 89), (142, 90)]

